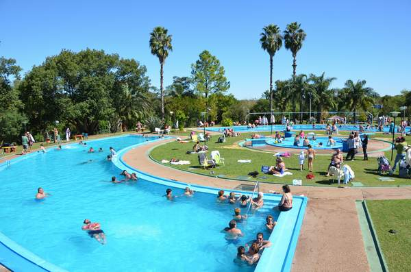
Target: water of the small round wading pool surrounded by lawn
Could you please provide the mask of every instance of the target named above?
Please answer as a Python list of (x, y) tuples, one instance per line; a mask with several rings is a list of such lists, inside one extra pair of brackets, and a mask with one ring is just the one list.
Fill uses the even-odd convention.
[[(327, 146), (328, 137), (317, 137), (316, 140), (312, 140), (312, 136), (308, 136), (310, 140), (310, 145), (313, 149), (343, 149), (343, 140), (338, 137), (333, 137), (336, 141), (336, 145)], [(319, 144), (322, 144), (321, 146)], [(286, 147), (286, 148), (297, 148), (297, 149), (308, 149), (308, 147), (303, 147), (303, 139), (299, 141), (299, 145), (294, 145), (294, 137), (284, 138), (282, 143), (275, 143), (275, 140), (266, 140), (267, 145), (273, 145), (275, 147)]]

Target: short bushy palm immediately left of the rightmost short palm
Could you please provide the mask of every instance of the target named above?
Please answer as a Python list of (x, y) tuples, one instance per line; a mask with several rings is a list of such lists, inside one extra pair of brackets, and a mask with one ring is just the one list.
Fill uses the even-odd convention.
[(336, 79), (336, 77), (325, 77), (325, 73), (317, 77), (310, 74), (308, 81), (312, 84), (313, 92), (310, 94), (312, 101), (316, 103), (317, 111), (320, 114), (317, 116), (317, 122), (321, 121), (321, 112), (329, 110), (336, 106), (336, 99), (334, 99), (335, 90), (329, 89), (329, 86)]

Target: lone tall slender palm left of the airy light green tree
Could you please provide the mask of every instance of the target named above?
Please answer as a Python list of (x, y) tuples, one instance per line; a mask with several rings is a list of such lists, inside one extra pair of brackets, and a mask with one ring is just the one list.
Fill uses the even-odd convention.
[(155, 27), (150, 34), (150, 49), (160, 62), (160, 96), (161, 96), (161, 116), (164, 119), (164, 88), (163, 88), (163, 66), (169, 51), (173, 51), (171, 45), (171, 35), (167, 35), (168, 30), (164, 27)]

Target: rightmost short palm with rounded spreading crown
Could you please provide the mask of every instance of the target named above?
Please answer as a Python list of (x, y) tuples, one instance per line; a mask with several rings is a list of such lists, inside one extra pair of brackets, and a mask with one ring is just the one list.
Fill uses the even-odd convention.
[(374, 103), (374, 99), (378, 97), (377, 92), (373, 88), (365, 87), (365, 80), (358, 80), (356, 84), (351, 79), (345, 82), (343, 90), (347, 108), (353, 110), (354, 123), (356, 122), (356, 111), (358, 108), (366, 110)]

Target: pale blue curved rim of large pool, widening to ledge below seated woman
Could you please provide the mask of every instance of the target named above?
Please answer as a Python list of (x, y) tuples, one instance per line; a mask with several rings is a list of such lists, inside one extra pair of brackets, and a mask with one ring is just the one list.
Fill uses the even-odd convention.
[[(201, 186), (197, 184), (188, 184), (185, 182), (178, 182), (176, 180), (169, 180), (163, 177), (157, 177), (155, 175), (151, 175), (149, 173), (145, 173), (140, 171), (133, 166), (130, 166), (123, 160), (123, 156), (128, 151), (139, 147), (140, 145), (145, 145), (147, 143), (153, 143), (159, 140), (165, 140), (171, 137), (166, 137), (163, 139), (154, 139), (150, 140), (146, 143), (139, 143), (136, 145), (132, 145), (129, 147), (125, 147), (124, 149), (119, 150), (117, 156), (112, 163), (116, 166), (119, 170), (127, 170), (138, 173), (138, 177), (142, 178), (142, 180), (146, 180), (148, 182), (153, 182), (156, 184), (162, 184), (165, 186), (171, 186), (174, 188), (185, 188), (189, 186), (190, 188), (194, 188), (197, 192), (201, 193), (210, 193), (216, 195), (216, 193), (220, 190), (220, 188), (214, 188), (211, 186)], [(235, 192), (235, 193), (242, 193), (245, 195), (251, 195), (250, 192), (242, 191), (242, 190), (226, 190), (227, 193)], [(281, 200), (282, 195), (273, 195), (273, 194), (264, 194), (264, 199), (266, 201), (275, 201), (279, 202)], [(308, 202), (307, 197), (303, 196), (293, 196), (293, 208), (288, 212), (279, 212), (279, 217), (277, 219), (277, 227), (271, 233), (269, 240), (273, 243), (272, 247), (264, 249), (264, 252), (258, 262), (258, 265), (255, 271), (258, 272), (268, 272), (268, 271), (290, 271), (292, 259), (294, 258), (295, 249), (297, 248), (297, 242), (299, 238), (299, 233), (301, 230), (301, 225), (303, 223), (303, 218), (306, 213), (306, 206)], [(284, 227), (278, 227), (284, 225)], [(290, 226), (293, 227), (285, 227)], [(284, 245), (287, 245), (286, 250), (284, 250)]]

